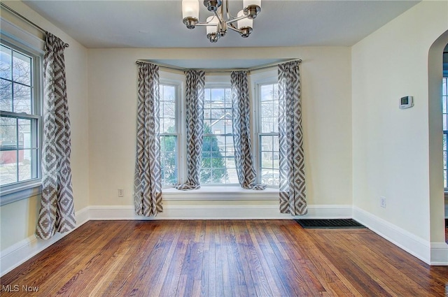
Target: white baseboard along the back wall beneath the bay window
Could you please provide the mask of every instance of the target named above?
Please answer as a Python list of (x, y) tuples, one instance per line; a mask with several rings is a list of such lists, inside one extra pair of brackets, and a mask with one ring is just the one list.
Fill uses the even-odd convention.
[[(294, 219), (282, 214), (279, 205), (166, 205), (156, 217), (135, 215), (133, 205), (93, 205), (90, 219)], [(351, 205), (309, 205), (307, 215), (314, 219), (349, 218)]]

